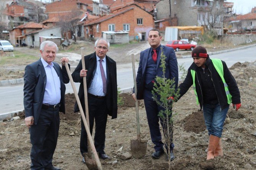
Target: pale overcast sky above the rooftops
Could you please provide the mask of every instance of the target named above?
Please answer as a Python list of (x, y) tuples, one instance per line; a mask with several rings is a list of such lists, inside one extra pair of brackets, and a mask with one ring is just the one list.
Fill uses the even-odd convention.
[[(41, 1), (41, 0), (37, 0)], [(50, 0), (42, 0), (42, 2), (50, 2)], [(256, 0), (226, 0), (226, 2), (234, 3), (234, 13), (247, 14), (251, 12), (251, 8), (256, 6)]]

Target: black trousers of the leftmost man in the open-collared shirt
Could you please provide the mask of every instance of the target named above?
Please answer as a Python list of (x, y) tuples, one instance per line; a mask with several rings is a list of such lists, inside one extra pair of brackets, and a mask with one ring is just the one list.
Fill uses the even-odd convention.
[(31, 170), (44, 170), (52, 166), (59, 127), (59, 108), (42, 109), (37, 124), (29, 128)]

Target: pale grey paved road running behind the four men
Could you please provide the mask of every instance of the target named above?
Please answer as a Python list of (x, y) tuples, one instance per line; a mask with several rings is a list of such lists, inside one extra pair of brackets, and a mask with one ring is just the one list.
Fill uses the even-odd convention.
[[(211, 58), (220, 58), (227, 63), (230, 67), (236, 62), (254, 62), (256, 60), (256, 47), (248, 49), (236, 50), (227, 53), (220, 53), (217, 55), (211, 55)], [(184, 63), (185, 69), (193, 62), (192, 58), (179, 58), (178, 63), (181, 65)], [(136, 69), (138, 63), (136, 63)], [(182, 73), (179, 73), (181, 75)], [(117, 84), (118, 88), (126, 89), (133, 87), (133, 74), (131, 63), (117, 65)], [(78, 91), (79, 83), (76, 83), (76, 89)], [(66, 86), (66, 93), (72, 93), (73, 89), (70, 83)], [(23, 84), (12, 86), (0, 87), (0, 115), (3, 113), (14, 112), (17, 110), (23, 110)]]

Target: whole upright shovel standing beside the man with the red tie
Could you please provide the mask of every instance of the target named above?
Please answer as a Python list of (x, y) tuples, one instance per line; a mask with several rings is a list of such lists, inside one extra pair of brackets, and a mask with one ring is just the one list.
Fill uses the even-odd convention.
[[(133, 64), (133, 81), (134, 81), (134, 92), (135, 98), (137, 95), (137, 83), (136, 83), (136, 74), (135, 74), (135, 64), (134, 64), (134, 54), (131, 55), (131, 62)], [(137, 120), (137, 140), (131, 140), (131, 154), (134, 158), (142, 158), (146, 155), (147, 152), (147, 140), (141, 140), (141, 131), (139, 128), (139, 107), (138, 100), (136, 98), (136, 120)]]

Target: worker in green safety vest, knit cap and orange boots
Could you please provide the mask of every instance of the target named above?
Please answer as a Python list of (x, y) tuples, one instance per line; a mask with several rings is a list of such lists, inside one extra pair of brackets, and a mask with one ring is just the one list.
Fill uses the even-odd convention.
[[(221, 135), (230, 103), (238, 110), (241, 107), (240, 92), (235, 78), (226, 63), (211, 59), (203, 46), (192, 51), (193, 63), (180, 84), (180, 99), (193, 85), (197, 104), (203, 108), (204, 121), (209, 134), (207, 160), (223, 156)], [(177, 101), (178, 99), (169, 99)], [(171, 101), (170, 100), (170, 101)]]

